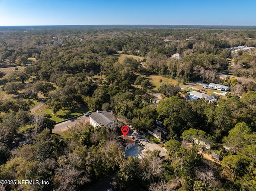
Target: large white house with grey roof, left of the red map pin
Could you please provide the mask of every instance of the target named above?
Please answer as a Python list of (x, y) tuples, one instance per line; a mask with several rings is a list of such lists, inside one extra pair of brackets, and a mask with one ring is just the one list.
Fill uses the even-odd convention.
[(90, 115), (90, 124), (94, 127), (108, 126), (110, 129), (114, 128), (114, 117), (107, 111), (99, 111)]

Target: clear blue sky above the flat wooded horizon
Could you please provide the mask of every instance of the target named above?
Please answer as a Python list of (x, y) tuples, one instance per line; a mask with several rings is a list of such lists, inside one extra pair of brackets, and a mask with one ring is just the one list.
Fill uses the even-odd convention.
[(256, 26), (256, 0), (0, 0), (0, 26)]

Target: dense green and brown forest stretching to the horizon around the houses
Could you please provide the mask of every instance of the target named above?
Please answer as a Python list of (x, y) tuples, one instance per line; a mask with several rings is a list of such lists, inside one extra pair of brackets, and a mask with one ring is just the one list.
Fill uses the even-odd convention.
[[(256, 191), (255, 47), (256, 28), (0, 28), (0, 179), (49, 182), (0, 190), (85, 191), (114, 174), (120, 191)], [(153, 84), (156, 76), (168, 82)], [(195, 81), (230, 91), (216, 103), (188, 100), (181, 86)], [(50, 114), (31, 111), (42, 99)], [(96, 110), (111, 110), (120, 123), (52, 132), (58, 117)], [(169, 131), (160, 143), (167, 157), (125, 157), (122, 124), (147, 134), (156, 120)], [(206, 159), (211, 151), (194, 138), (222, 160)]]

